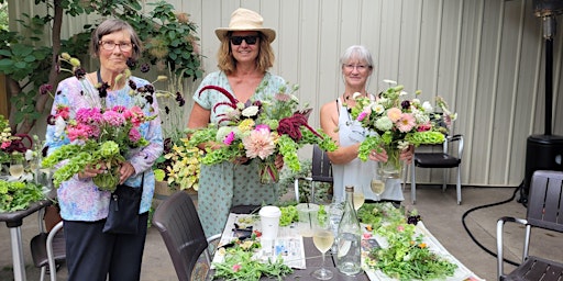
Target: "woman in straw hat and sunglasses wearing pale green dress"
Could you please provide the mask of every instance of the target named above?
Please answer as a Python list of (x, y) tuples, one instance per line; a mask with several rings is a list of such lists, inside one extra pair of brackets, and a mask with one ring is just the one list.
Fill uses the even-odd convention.
[[(220, 70), (209, 74), (194, 94), (189, 128), (218, 124), (228, 108), (214, 108), (229, 100), (217, 90), (200, 93), (200, 89), (206, 86), (221, 87), (240, 102), (246, 102), (251, 98), (261, 100), (267, 94), (274, 94), (286, 83), (282, 77), (267, 71), (274, 64), (271, 43), (276, 38), (276, 32), (264, 27), (263, 21), (258, 13), (240, 8), (231, 14), (229, 27), (216, 30), (221, 41), (218, 52)], [(256, 92), (261, 85), (265, 87)], [(200, 148), (220, 145), (208, 143)], [(276, 166), (282, 168), (283, 161), (280, 157), (278, 159)], [(231, 206), (271, 204), (277, 200), (277, 184), (262, 184), (257, 162), (246, 160), (201, 167), (198, 212), (207, 236), (222, 232)]]

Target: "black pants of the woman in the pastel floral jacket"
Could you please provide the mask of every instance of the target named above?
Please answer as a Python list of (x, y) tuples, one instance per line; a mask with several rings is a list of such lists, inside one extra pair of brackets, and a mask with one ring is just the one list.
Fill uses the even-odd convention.
[(65, 221), (68, 281), (137, 281), (145, 247), (148, 213), (141, 214), (139, 233), (102, 233), (106, 220)]

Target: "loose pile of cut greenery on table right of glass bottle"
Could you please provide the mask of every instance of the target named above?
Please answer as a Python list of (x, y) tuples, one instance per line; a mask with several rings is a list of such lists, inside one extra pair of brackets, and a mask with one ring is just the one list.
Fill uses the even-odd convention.
[(388, 203), (364, 204), (358, 210), (360, 221), (371, 225), (373, 233), (388, 243), (385, 248), (369, 251), (366, 266), (399, 280), (433, 280), (453, 276), (457, 266), (431, 251), (422, 241), (422, 235), (415, 236), (419, 216), (416, 212), (407, 215), (408, 221), (401, 210)]

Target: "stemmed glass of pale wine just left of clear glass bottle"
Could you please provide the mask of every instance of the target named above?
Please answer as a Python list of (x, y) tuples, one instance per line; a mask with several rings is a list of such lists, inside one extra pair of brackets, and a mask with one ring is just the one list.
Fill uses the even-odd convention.
[(312, 243), (314, 247), (322, 254), (321, 268), (311, 272), (311, 276), (319, 280), (329, 280), (334, 276), (332, 271), (324, 268), (324, 254), (332, 247), (334, 243), (334, 233), (332, 232), (327, 220), (316, 220), (313, 225)]

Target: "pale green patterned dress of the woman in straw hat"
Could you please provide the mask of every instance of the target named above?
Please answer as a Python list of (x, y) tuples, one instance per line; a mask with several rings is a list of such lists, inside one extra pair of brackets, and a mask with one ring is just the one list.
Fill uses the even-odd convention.
[[(262, 82), (266, 82), (263, 92), (254, 93), (251, 99), (261, 100), (266, 94), (275, 94), (285, 80), (266, 72)], [(206, 76), (194, 100), (203, 109), (211, 110), (211, 123), (218, 123), (219, 114), (228, 106), (213, 105), (219, 102), (228, 102), (228, 98), (216, 90), (206, 90), (199, 94), (199, 90), (206, 86), (218, 86), (233, 93), (227, 75), (223, 71), (216, 71)], [(236, 98), (236, 94), (233, 94)], [(201, 166), (198, 190), (198, 213), (203, 225), (206, 235), (209, 237), (222, 233), (229, 211), (234, 205), (261, 205), (272, 204), (278, 198), (277, 184), (262, 184), (258, 177), (258, 160), (252, 160), (249, 165), (234, 165), (222, 162), (219, 165)]]

